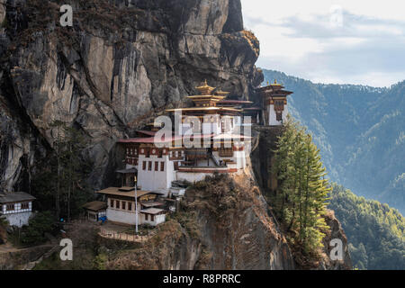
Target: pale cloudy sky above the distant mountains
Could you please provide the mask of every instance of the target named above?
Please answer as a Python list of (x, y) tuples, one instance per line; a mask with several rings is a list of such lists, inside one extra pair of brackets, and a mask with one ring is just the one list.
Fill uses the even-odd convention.
[(405, 80), (403, 0), (241, 0), (260, 40), (257, 67), (316, 83)]

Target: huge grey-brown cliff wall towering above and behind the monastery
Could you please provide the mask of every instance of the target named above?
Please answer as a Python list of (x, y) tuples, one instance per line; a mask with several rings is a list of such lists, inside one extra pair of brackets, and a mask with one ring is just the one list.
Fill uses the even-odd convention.
[(247, 98), (263, 77), (239, 0), (75, 0), (74, 27), (60, 27), (60, 4), (0, 4), (0, 129), (10, 135), (1, 142), (0, 179), (7, 189), (27, 189), (35, 160), (52, 146), (53, 121), (91, 140), (96, 188), (107, 181), (116, 139), (131, 127), (180, 105), (204, 79)]

